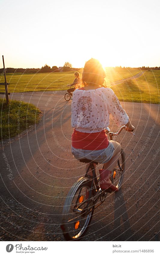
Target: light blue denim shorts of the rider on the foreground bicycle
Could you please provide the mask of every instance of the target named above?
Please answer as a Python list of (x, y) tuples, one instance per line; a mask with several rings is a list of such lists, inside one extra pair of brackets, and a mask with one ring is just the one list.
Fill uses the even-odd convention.
[(113, 156), (114, 147), (109, 141), (108, 147), (101, 150), (84, 150), (71, 147), (71, 152), (77, 160), (86, 158), (98, 163), (107, 163)]

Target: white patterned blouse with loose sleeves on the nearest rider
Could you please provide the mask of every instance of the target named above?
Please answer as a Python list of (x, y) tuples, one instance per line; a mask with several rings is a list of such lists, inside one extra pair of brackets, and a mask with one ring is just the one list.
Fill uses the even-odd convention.
[(72, 98), (71, 125), (80, 132), (99, 132), (109, 126), (110, 117), (116, 125), (126, 125), (128, 115), (110, 88), (75, 90)]

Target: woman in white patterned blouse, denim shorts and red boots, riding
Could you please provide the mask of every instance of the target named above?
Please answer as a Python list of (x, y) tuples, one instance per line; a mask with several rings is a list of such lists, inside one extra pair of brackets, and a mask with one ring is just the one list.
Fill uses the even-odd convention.
[[(125, 125), (126, 130), (133, 131), (134, 126), (113, 90), (103, 87), (104, 78), (105, 72), (98, 60), (92, 58), (86, 62), (82, 74), (84, 87), (73, 93), (72, 153), (78, 160), (86, 158), (104, 163), (104, 169), (99, 170), (101, 189), (117, 191), (110, 174), (120, 156), (121, 145), (116, 141), (108, 141), (105, 128), (109, 126), (110, 117), (116, 125)], [(92, 171), (88, 174), (92, 176)]]

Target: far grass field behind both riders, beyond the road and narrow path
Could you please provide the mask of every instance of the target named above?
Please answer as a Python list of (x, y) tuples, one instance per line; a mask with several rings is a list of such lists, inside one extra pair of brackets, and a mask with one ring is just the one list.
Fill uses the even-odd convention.
[[(106, 70), (106, 83), (117, 81), (139, 73), (139, 70)], [(28, 91), (52, 91), (66, 90), (67, 84), (74, 80), (74, 72), (62, 73), (41, 73), (41, 74), (7, 74), (9, 92), (28, 92)], [(4, 76), (0, 76), (0, 82), (4, 82)], [(0, 85), (0, 92), (5, 92), (3, 85)]]

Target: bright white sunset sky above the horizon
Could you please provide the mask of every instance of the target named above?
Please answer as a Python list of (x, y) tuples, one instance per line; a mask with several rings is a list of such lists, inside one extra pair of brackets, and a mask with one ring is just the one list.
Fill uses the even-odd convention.
[(0, 68), (160, 66), (159, 0), (0, 0)]

